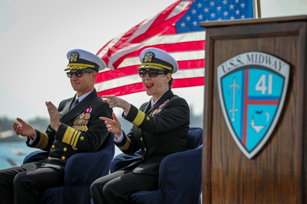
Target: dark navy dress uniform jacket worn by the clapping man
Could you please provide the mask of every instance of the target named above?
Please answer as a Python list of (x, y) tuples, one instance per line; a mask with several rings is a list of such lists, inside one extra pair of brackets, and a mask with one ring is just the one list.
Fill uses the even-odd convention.
[[(81, 152), (95, 152), (107, 141), (109, 132), (99, 117), (112, 118), (112, 109), (108, 103), (103, 102), (95, 89), (69, 110), (74, 99), (75, 97), (60, 102), (58, 111), (61, 124), (57, 132), (49, 125), (46, 132), (36, 130), (37, 138), (33, 144), (29, 144), (28, 138), (27, 146), (49, 151), (49, 157), (26, 164), (27, 170), (52, 167), (64, 171), (69, 157)], [(90, 111), (90, 118), (86, 124), (88, 130), (82, 132), (72, 128), (74, 119), (86, 109)]]

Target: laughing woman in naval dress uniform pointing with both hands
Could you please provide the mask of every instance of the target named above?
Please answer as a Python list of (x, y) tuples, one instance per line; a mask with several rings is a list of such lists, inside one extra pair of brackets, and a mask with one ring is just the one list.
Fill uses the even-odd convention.
[(177, 61), (167, 52), (147, 48), (140, 54), (137, 69), (149, 102), (139, 109), (114, 95), (102, 96), (110, 108), (123, 109), (122, 117), (133, 124), (126, 134), (113, 113), (113, 120), (105, 120), (108, 131), (115, 134), (115, 145), (125, 154), (142, 150), (143, 159), (124, 169), (103, 176), (91, 185), (93, 202), (129, 203), (129, 195), (137, 191), (158, 189), (159, 166), (167, 155), (188, 150), (187, 135), (190, 109), (185, 99), (171, 91), (172, 74), (177, 72)]

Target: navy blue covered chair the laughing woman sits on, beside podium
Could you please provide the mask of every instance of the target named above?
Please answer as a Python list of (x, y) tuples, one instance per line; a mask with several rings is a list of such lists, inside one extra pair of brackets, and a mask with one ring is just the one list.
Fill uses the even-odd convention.
[[(157, 191), (139, 191), (130, 195), (131, 203), (190, 204), (201, 203), (201, 163), (203, 128), (190, 127), (188, 151), (165, 157), (159, 169)], [(111, 162), (111, 173), (142, 158), (141, 150), (134, 154), (119, 154)]]

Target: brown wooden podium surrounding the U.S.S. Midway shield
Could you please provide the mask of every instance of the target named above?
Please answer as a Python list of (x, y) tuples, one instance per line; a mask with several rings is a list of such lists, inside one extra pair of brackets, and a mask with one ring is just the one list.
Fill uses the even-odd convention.
[[(202, 22), (200, 26), (206, 28), (202, 202), (306, 204), (307, 16)], [(232, 123), (224, 118), (217, 76), (219, 66), (249, 52), (268, 54), (290, 65), (275, 127), (251, 158), (238, 147), (240, 139), (234, 140), (228, 127)], [(235, 85), (234, 81), (232, 88)]]

